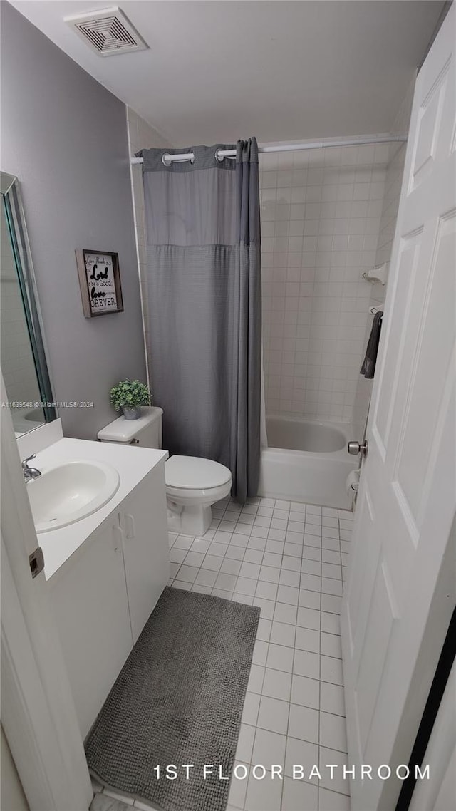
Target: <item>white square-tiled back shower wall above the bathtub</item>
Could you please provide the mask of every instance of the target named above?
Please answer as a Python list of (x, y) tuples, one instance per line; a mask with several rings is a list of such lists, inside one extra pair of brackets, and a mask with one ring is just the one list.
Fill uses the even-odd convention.
[(388, 144), (260, 157), (269, 413), (351, 422)]

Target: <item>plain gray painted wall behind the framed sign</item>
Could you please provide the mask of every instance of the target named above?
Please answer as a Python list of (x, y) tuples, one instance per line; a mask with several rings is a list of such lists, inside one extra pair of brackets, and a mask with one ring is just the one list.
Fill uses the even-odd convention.
[[(94, 402), (60, 408), (63, 431), (95, 439), (116, 416), (110, 386), (146, 379), (126, 109), (1, 6), (1, 168), (21, 182), (54, 395)], [(118, 252), (123, 313), (84, 318), (75, 248)]]

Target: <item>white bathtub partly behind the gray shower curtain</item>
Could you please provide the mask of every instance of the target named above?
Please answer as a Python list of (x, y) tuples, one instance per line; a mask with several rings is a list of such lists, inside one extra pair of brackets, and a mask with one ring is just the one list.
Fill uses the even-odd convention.
[(351, 509), (346, 477), (358, 467), (348, 456), (346, 424), (266, 417), (268, 448), (260, 458), (260, 496)]

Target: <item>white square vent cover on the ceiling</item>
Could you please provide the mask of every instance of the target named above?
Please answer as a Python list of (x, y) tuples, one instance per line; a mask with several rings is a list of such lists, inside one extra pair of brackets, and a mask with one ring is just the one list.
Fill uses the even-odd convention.
[(98, 56), (128, 54), (148, 47), (118, 6), (63, 19)]

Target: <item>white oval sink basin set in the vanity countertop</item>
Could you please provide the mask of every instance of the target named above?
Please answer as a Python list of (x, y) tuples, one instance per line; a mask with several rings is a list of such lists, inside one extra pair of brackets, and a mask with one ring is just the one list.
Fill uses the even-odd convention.
[(49, 532), (95, 513), (114, 496), (117, 470), (100, 461), (70, 461), (49, 467), (27, 485), (35, 530)]

